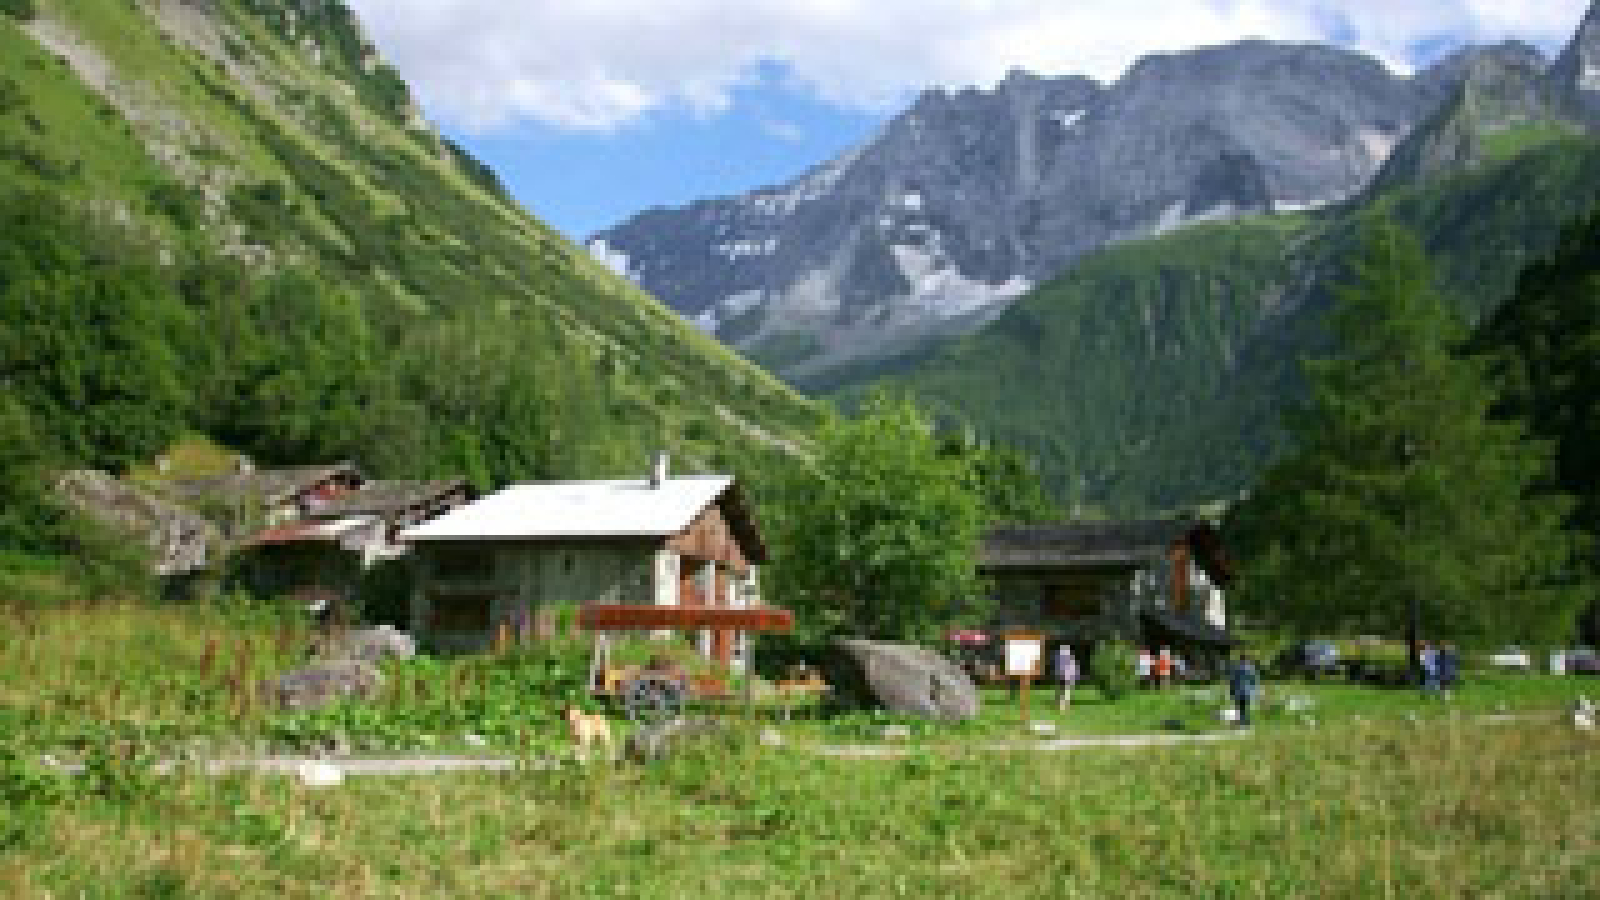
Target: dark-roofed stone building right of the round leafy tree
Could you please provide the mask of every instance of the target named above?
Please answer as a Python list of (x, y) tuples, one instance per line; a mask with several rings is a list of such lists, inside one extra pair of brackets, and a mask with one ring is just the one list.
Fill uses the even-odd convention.
[(1216, 528), (1198, 519), (1061, 522), (995, 528), (979, 562), (995, 629), (1091, 644), (1226, 647), (1232, 578)]

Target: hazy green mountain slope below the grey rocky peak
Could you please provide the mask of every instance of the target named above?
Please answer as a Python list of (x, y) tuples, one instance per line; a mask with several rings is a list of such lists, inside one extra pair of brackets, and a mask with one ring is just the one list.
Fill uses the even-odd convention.
[(1384, 210), (1414, 229), (1445, 293), (1477, 317), (1587, 210), (1600, 147), (1534, 128), (1498, 133), (1504, 152), (1474, 167), (1344, 210), (1110, 248), (888, 381), (1032, 452), (1069, 503), (1149, 511), (1227, 498), (1280, 440), (1299, 359), (1330, 349), (1322, 317), (1363, 216)]

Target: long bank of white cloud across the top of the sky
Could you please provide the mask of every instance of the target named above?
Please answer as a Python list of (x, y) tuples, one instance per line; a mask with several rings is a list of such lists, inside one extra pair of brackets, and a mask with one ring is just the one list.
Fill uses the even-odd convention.
[(1560, 42), (1587, 0), (349, 0), (435, 114), (606, 131), (712, 114), (778, 62), (853, 109), (1021, 66), (1115, 78), (1139, 56), (1242, 37), (1350, 43), (1402, 64), (1421, 40)]

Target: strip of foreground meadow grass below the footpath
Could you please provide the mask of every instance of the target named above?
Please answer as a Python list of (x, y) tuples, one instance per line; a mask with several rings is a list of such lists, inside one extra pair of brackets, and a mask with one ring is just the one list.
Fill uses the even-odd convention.
[(1226, 746), (654, 769), (176, 777), (48, 810), (0, 894), (1586, 897), (1595, 743), (1552, 722)]

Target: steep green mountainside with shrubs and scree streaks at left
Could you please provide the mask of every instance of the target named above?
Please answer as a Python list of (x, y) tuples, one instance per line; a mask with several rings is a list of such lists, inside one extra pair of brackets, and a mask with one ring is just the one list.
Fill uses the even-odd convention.
[[(66, 266), (0, 234), (8, 320), (51, 279), (78, 279), (64, 290), (82, 299), (82, 279), (115, 271), (158, 312), (144, 364), (182, 381), (174, 407), (126, 413), (160, 418), (149, 439), (54, 440), (72, 399), (11, 348), (0, 364), (22, 375), (3, 384), (62, 461), (123, 464), (206, 431), (266, 461), (480, 482), (634, 474), (658, 448), (749, 471), (816, 424), (518, 208), (418, 115), (341, 3), (0, 10), (0, 195), (83, 255)], [(91, 331), (72, 352), (118, 354)]]

